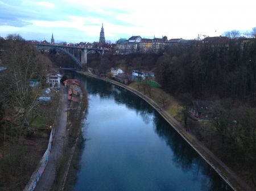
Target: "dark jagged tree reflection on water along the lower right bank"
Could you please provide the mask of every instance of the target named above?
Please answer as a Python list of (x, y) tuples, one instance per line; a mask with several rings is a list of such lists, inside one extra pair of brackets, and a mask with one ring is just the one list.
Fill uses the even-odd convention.
[(174, 129), (170, 129), (170, 125), (163, 121), (158, 113), (155, 113), (154, 123), (156, 133), (174, 151), (174, 158), (172, 158), (174, 163), (184, 172), (192, 171), (194, 180), (201, 179), (201, 190), (232, 190)]

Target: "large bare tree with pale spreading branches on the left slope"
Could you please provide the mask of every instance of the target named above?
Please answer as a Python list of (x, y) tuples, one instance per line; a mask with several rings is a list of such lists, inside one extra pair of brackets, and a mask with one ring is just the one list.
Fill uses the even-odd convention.
[(3, 103), (5, 103), (7, 114), (12, 116), (15, 135), (19, 137), (29, 124), (32, 109), (38, 105), (36, 99), (40, 87), (32, 89), (29, 81), (36, 79), (42, 84), (46, 79), (46, 67), (50, 61), (36, 52), (33, 46), (24, 41), (14, 40), (16, 39), (14, 36), (6, 40), (4, 47), (6, 51), (3, 54), (3, 63), (7, 69), (3, 73), (1, 87)]

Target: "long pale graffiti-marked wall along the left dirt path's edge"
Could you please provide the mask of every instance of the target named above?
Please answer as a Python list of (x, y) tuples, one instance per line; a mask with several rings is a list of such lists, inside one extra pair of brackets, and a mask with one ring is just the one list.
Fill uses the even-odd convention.
[[(60, 99), (60, 101), (61, 101), (61, 99)], [(57, 108), (57, 113), (59, 113), (60, 101), (59, 101), (59, 106)], [(55, 117), (55, 120), (52, 125), (52, 130), (51, 130), (51, 135), (49, 137), (47, 150), (46, 150), (46, 152), (44, 152), (44, 155), (43, 155), (42, 159), (40, 160), (38, 167), (36, 167), (36, 170), (32, 173), (32, 176), (30, 177), (30, 181), (28, 181), (28, 183), (23, 191), (33, 191), (36, 187), (36, 183), (40, 180), (40, 177), (42, 176), (44, 169), (46, 168), (46, 165), (49, 160), (51, 148), (52, 148), (52, 141), (53, 141), (52, 139), (55, 134), (55, 121), (56, 121), (56, 117)]]

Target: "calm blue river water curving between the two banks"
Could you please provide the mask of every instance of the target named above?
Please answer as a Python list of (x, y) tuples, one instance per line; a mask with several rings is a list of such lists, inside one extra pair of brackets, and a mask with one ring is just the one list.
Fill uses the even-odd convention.
[(76, 75), (88, 91), (85, 147), (73, 190), (232, 190), (146, 101)]

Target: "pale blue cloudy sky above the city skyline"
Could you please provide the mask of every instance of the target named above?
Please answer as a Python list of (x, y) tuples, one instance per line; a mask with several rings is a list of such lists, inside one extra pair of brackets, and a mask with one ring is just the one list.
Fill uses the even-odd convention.
[(256, 27), (256, 0), (0, 0), (0, 36), (79, 43), (145, 38), (195, 39)]

